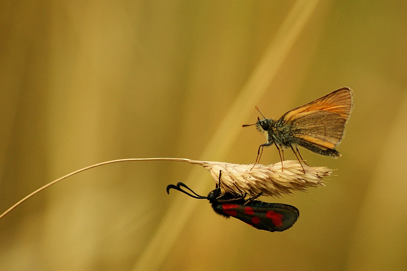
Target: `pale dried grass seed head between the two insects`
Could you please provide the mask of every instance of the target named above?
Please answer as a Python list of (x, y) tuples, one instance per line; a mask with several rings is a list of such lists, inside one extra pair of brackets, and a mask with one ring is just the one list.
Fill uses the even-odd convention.
[[(298, 161), (286, 160), (271, 165), (230, 164), (224, 162), (188, 161), (208, 169), (218, 183), (219, 171), (222, 170), (221, 188), (235, 195), (254, 197), (260, 192), (262, 196), (278, 197), (305, 191), (308, 187), (325, 186), (323, 178), (330, 176), (332, 170), (326, 167), (304, 166), (305, 173)], [(253, 167), (253, 168), (252, 168)]]

